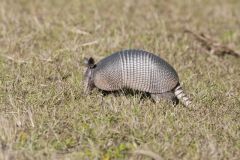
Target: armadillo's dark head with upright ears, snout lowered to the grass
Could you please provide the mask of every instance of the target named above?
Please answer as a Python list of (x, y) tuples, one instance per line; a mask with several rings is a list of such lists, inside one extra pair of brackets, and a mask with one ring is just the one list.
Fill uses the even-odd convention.
[(96, 65), (94, 64), (94, 59), (92, 57), (85, 58), (84, 64), (86, 66), (86, 70), (84, 74), (84, 93), (89, 94), (89, 92), (95, 86), (93, 81), (93, 71)]

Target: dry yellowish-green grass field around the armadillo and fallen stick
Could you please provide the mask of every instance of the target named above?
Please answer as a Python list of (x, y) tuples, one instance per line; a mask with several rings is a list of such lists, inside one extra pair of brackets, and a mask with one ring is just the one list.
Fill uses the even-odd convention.
[[(0, 159), (239, 159), (238, 0), (1, 0)], [(83, 59), (139, 48), (177, 70), (194, 108), (83, 94)]]

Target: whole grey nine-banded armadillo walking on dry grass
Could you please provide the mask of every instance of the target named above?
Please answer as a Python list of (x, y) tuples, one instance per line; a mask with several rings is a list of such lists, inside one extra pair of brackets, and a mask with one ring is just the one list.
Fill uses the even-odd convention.
[(95, 64), (93, 58), (85, 59), (84, 92), (94, 87), (105, 91), (124, 88), (148, 92), (155, 101), (161, 99), (191, 101), (183, 92), (174, 68), (160, 57), (143, 50), (123, 50)]

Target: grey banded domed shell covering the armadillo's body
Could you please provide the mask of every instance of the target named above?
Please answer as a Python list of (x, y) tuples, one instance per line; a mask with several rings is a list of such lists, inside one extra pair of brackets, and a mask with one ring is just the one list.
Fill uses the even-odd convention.
[(113, 53), (96, 64), (96, 87), (114, 91), (124, 88), (149, 93), (172, 90), (179, 82), (174, 68), (160, 57), (142, 50)]

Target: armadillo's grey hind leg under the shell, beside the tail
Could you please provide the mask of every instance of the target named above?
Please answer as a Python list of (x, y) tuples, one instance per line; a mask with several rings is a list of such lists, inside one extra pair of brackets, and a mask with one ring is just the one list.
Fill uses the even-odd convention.
[(173, 103), (174, 105), (178, 104), (179, 102), (179, 100), (177, 99), (173, 91), (159, 93), (159, 94), (152, 93), (151, 97), (155, 102), (167, 101), (167, 102)]

